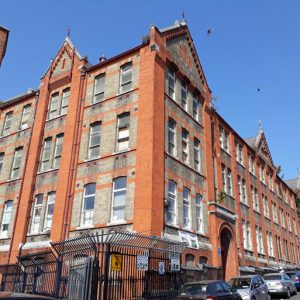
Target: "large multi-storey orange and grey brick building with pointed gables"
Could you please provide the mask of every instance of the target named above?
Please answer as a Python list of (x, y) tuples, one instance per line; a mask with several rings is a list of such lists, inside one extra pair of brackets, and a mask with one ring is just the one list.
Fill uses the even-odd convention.
[(99, 229), (186, 241), (183, 265), (226, 278), (300, 264), (295, 194), (263, 131), (243, 139), (213, 109), (184, 21), (94, 66), (66, 38), (0, 109), (0, 264)]

